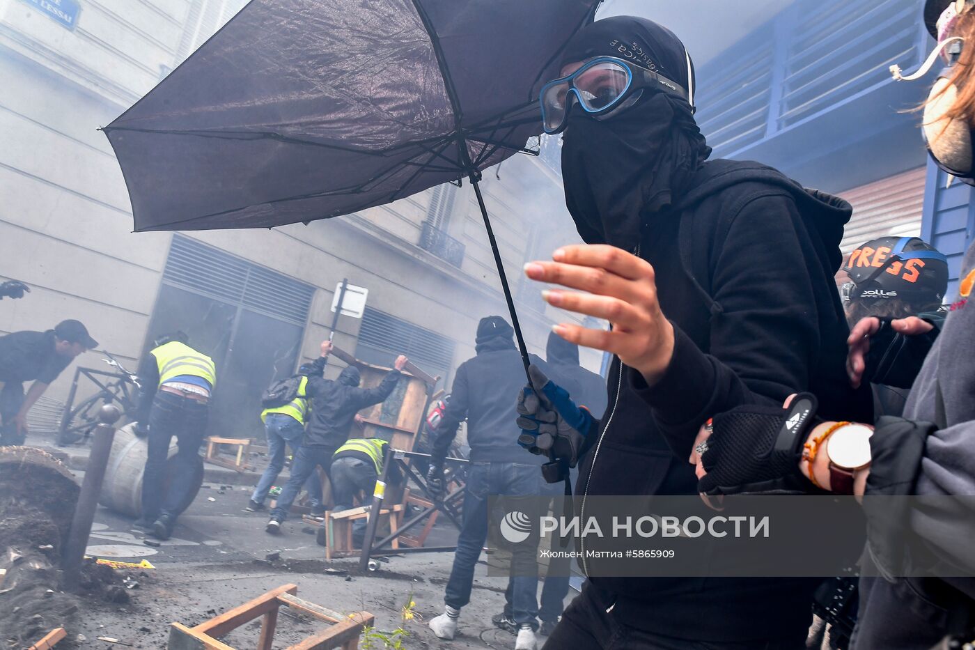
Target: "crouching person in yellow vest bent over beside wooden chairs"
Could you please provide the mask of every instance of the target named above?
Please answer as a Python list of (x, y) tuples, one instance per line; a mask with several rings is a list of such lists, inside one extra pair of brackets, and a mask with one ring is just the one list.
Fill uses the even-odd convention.
[[(360, 503), (367, 505), (372, 497), (376, 479), (382, 475), (383, 461), (389, 443), (381, 438), (353, 438), (335, 450), (331, 457), (331, 495), (335, 510), (353, 507), (354, 499), (362, 493)], [(390, 463), (386, 482), (403, 484), (403, 473), (397, 463)], [(356, 519), (352, 526), (352, 542), (361, 546), (366, 534), (366, 519)], [(324, 527), (319, 530), (324, 531)]]

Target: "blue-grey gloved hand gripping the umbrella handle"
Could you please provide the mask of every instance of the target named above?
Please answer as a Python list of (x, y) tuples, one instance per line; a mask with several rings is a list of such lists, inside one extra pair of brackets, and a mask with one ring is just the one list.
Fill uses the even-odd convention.
[(568, 392), (545, 376), (537, 366), (528, 367), (531, 386), (518, 395), (518, 444), (532, 454), (547, 454), (575, 467), (586, 436), (596, 419), (585, 407), (575, 405)]

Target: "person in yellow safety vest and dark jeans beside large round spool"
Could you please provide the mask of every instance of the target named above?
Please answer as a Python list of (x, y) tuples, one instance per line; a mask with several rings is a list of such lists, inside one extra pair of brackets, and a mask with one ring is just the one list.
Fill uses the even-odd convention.
[[(141, 395), (136, 434), (146, 437), (142, 476), (142, 516), (135, 526), (160, 540), (168, 540), (176, 517), (193, 501), (203, 461), (203, 444), (216, 385), (214, 360), (189, 346), (183, 332), (167, 334), (138, 366)], [(178, 451), (167, 481), (170, 441)]]

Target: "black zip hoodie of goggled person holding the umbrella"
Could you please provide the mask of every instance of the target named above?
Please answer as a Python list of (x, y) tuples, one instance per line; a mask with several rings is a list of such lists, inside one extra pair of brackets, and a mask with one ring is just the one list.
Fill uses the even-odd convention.
[[(678, 205), (630, 250), (653, 264), (674, 357), (652, 387), (614, 359), (609, 404), (576, 484), (586, 495), (696, 494), (698, 428), (739, 404), (810, 390), (827, 419), (872, 422), (846, 379), (848, 329), (833, 275), (850, 207), (764, 165), (701, 165)], [(577, 503), (578, 503), (577, 502)], [(583, 570), (599, 573), (583, 562)], [(749, 641), (808, 625), (815, 581), (595, 578), (622, 622), (680, 638)], [(707, 612), (706, 617), (700, 616)]]

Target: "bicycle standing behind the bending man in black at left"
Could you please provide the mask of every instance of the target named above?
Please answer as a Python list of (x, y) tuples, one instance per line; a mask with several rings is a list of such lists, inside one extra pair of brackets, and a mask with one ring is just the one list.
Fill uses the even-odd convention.
[[(68, 393), (67, 405), (61, 418), (58, 430), (58, 445), (60, 447), (86, 443), (95, 427), (98, 426), (98, 411), (106, 404), (115, 404), (122, 410), (122, 424), (137, 420), (137, 391), (141, 388), (135, 373), (130, 372), (118, 359), (102, 350), (105, 357), (103, 363), (117, 369), (117, 372), (99, 370), (98, 368), (78, 368), (74, 372), (74, 380)], [(84, 399), (77, 406), (74, 397), (78, 391), (78, 381), (84, 376), (98, 386), (97, 393)], [(119, 425), (122, 426), (122, 425)]]

